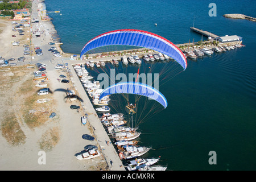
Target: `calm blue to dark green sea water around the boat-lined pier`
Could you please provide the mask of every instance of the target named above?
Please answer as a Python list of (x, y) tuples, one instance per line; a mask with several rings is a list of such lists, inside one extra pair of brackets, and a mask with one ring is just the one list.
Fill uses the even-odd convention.
[[(197, 42), (201, 35), (189, 30), (194, 18), (195, 27), (219, 36), (242, 36), (246, 47), (197, 61), (188, 59), (184, 72), (160, 81), (159, 90), (166, 96), (168, 107), (139, 125), (143, 133), (140, 144), (154, 148), (145, 157), (161, 156), (159, 164), (168, 164), (170, 170), (255, 170), (256, 23), (222, 15), (241, 13), (256, 17), (256, 3), (214, 1), (217, 16), (210, 17), (211, 2), (45, 1), (48, 11), (61, 11), (62, 15), (49, 15), (64, 43), (64, 52), (79, 54), (90, 39), (122, 28), (150, 31), (175, 44)], [(152, 72), (164, 67), (143, 64), (142, 70), (154, 67)], [(109, 68), (112, 65), (108, 64), (105, 72)], [(138, 67), (119, 65), (117, 70), (136, 73)], [(152, 109), (150, 112), (154, 113)], [(216, 165), (208, 163), (209, 151), (216, 151)]]

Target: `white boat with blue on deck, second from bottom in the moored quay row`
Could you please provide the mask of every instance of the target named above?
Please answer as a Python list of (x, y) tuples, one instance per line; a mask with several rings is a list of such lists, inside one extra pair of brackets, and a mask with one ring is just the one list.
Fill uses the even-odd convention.
[(153, 164), (157, 163), (160, 158), (151, 158), (151, 159), (135, 159), (130, 160), (125, 167), (128, 171), (136, 171), (139, 168), (143, 168), (146, 166), (152, 166)]

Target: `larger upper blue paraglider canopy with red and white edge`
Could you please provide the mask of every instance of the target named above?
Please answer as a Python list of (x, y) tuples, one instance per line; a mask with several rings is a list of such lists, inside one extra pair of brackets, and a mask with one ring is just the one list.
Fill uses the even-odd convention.
[(96, 36), (82, 48), (80, 59), (82, 55), (94, 48), (110, 45), (150, 48), (172, 57), (184, 70), (187, 68), (185, 55), (174, 43), (151, 32), (134, 29), (114, 30)]

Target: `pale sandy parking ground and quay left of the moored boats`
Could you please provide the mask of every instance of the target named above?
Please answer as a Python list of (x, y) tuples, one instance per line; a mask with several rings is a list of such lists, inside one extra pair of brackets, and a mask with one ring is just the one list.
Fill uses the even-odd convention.
[[(37, 5), (39, 1), (33, 1), (31, 16), (37, 16)], [(3, 82), (0, 90), (1, 102), (1, 135), (0, 135), (0, 170), (125, 170), (122, 166), (117, 152), (112, 144), (107, 145), (109, 140), (96, 111), (89, 101), (79, 78), (72, 69), (72, 77), (69, 77), (67, 69), (55, 69), (61, 58), (52, 56), (48, 49), (52, 46), (51, 32), (54, 27), (51, 22), (31, 24), (32, 30), (40, 28), (42, 34), (39, 38), (32, 35), (31, 50), (40, 47), (43, 56), (26, 56), (23, 63), (17, 63), (17, 59), (23, 56), (23, 44), (30, 43), (30, 29), (27, 28), (23, 37), (12, 37), (12, 24), (8, 19), (0, 18), (0, 56), (6, 60), (15, 58), (15, 67), (2, 67), (0, 77)], [(19, 38), (19, 39), (18, 39)], [(20, 46), (13, 47), (11, 41), (20, 41)], [(51, 101), (37, 104), (35, 101), (44, 96), (37, 96), (40, 88), (36, 88), (36, 81), (31, 75), (36, 68), (28, 69), (27, 65), (35, 63), (47, 64), (47, 87), (51, 92), (46, 96)], [(68, 63), (68, 61), (67, 61)], [(63, 84), (57, 80), (59, 75), (67, 76), (71, 80)], [(70, 102), (66, 98), (65, 90), (74, 88), (81, 98)], [(79, 111), (71, 110), (70, 105), (79, 105)], [(86, 113), (89, 122), (81, 124), (81, 117)], [(49, 115), (55, 112), (55, 118)], [(35, 120), (31, 123), (31, 118)], [(94, 129), (92, 129), (94, 127)], [(82, 139), (83, 134), (96, 137), (89, 141)], [(98, 147), (100, 157), (77, 160), (76, 153), (84, 150), (88, 144)], [(43, 158), (44, 157), (44, 158)], [(46, 163), (42, 163), (43, 161)], [(110, 165), (110, 160), (113, 166)]]

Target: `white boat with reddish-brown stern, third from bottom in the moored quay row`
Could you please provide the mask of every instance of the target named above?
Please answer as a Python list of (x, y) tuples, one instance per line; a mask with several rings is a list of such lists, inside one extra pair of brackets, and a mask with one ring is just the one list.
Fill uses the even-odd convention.
[(119, 152), (120, 159), (133, 159), (146, 154), (149, 147), (123, 146), (125, 151)]

